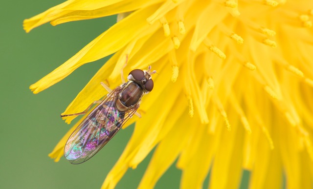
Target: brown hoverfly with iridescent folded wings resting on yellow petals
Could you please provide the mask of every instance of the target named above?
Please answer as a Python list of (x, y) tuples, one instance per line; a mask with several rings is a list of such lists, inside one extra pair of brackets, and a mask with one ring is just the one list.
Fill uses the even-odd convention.
[(156, 71), (134, 69), (127, 79), (128, 82), (111, 90), (101, 83), (109, 94), (103, 101), (95, 101), (84, 112), (61, 115), (61, 117), (87, 113), (93, 104), (96, 106), (80, 123), (67, 140), (64, 156), (71, 164), (81, 164), (94, 156), (116, 134), (116, 132), (134, 115), (144, 94), (152, 91), (154, 83), (151, 78)]

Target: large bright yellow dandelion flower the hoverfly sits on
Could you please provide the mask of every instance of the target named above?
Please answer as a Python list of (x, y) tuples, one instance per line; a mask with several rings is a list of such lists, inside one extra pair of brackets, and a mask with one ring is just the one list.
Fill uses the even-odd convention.
[[(106, 95), (100, 82), (121, 84), (126, 55), (125, 73), (157, 70), (103, 189), (154, 147), (140, 189), (153, 188), (176, 159), (182, 189), (201, 188), (209, 170), (210, 189), (236, 189), (243, 169), (251, 171), (251, 189), (281, 188), (283, 175), (289, 189), (312, 187), (312, 0), (68, 0), (25, 20), (24, 29), (114, 14), (116, 24), (30, 86), (38, 93), (114, 54), (68, 114)], [(55, 161), (74, 128), (49, 154)]]

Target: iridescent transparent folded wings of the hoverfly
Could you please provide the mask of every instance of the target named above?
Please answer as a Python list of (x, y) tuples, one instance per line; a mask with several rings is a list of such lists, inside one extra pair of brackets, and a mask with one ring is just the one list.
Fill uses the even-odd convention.
[(121, 87), (116, 87), (68, 138), (64, 156), (71, 164), (81, 164), (94, 156), (138, 109), (139, 105), (125, 112), (116, 109), (120, 90)]

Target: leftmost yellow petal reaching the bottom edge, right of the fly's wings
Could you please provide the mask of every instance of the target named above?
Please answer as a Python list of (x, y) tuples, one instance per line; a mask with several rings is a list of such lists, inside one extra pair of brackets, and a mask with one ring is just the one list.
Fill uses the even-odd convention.
[[(170, 82), (170, 80), (168, 82)], [(173, 86), (168, 86), (166, 88), (168, 91), (172, 91), (173, 89), (175, 89)], [(151, 94), (152, 93), (153, 92), (151, 92)], [(176, 95), (173, 94), (173, 96), (171, 95), (169, 97), (159, 96), (158, 100), (171, 104), (175, 102), (175, 98)], [(159, 101), (152, 105), (156, 105)], [(142, 104), (144, 104), (144, 102)], [(164, 122), (166, 118), (164, 116), (167, 115), (168, 111), (170, 110), (167, 109), (168, 107), (170, 106), (163, 108), (160, 106), (158, 106), (158, 108), (151, 106), (151, 109), (148, 109), (144, 117), (137, 121), (132, 138), (130, 139), (120, 159), (108, 174), (102, 188), (114, 187), (126, 172), (128, 167), (135, 168), (137, 164), (139, 164), (143, 158), (146, 157), (146, 155), (152, 150), (157, 134), (161, 131), (161, 123)], [(156, 119), (158, 121), (152, 123), (152, 119)]]

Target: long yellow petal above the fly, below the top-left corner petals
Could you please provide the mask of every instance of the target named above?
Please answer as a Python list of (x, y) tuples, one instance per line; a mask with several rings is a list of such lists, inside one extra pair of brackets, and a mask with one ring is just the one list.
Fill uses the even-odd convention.
[[(117, 50), (120, 50), (128, 42), (134, 39), (140, 32), (146, 30), (149, 24), (145, 21), (156, 5), (136, 11), (122, 21), (117, 22), (109, 30), (98, 36), (67, 62), (53, 70), (37, 83), (32, 84), (30, 89), (39, 93), (49, 86), (63, 80), (81, 65), (104, 58)], [(136, 22), (137, 24), (133, 24)], [(124, 28), (127, 28), (125, 33)]]

